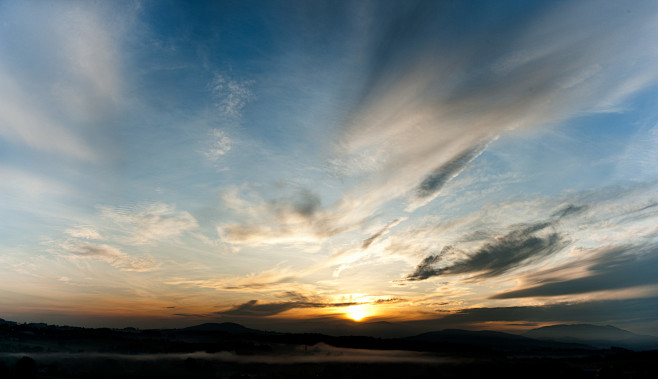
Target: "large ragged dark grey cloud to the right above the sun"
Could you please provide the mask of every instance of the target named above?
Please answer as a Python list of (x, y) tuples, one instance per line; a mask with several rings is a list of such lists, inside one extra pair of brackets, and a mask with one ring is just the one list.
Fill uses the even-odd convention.
[[(478, 273), (477, 277), (494, 277), (562, 249), (566, 242), (558, 233), (543, 236), (536, 233), (552, 226), (551, 222), (537, 223), (513, 230), (503, 237), (487, 243), (464, 260), (451, 262), (452, 246), (443, 247), (440, 253), (423, 259), (407, 280), (425, 280), (433, 276)], [(442, 265), (443, 264), (443, 265)]]

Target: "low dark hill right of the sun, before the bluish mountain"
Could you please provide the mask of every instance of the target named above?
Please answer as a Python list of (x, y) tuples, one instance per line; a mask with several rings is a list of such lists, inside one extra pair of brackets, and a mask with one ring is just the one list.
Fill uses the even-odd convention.
[(591, 346), (581, 343), (565, 343), (556, 341), (542, 341), (534, 338), (519, 336), (490, 330), (461, 330), (445, 329), (437, 332), (419, 334), (408, 337), (408, 340), (462, 344), (492, 348), (495, 350), (535, 350), (535, 349), (566, 349), (591, 350)]

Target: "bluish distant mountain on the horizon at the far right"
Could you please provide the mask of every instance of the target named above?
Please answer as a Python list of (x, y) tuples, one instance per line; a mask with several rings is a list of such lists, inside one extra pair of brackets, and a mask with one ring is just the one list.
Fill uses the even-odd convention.
[(658, 349), (658, 337), (635, 334), (612, 325), (552, 325), (532, 329), (524, 336), (545, 341), (583, 343), (602, 349), (613, 346), (630, 350)]

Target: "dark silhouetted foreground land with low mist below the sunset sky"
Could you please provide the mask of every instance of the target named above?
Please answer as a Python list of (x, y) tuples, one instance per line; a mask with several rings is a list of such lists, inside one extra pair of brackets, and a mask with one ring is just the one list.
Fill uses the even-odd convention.
[(611, 326), (407, 338), (238, 324), (89, 329), (0, 319), (0, 378), (655, 378), (658, 339)]

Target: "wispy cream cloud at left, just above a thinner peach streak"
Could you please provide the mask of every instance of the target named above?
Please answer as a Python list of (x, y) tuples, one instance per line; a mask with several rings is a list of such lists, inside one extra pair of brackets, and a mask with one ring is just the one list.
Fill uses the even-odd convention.
[(137, 207), (100, 207), (101, 215), (126, 228), (129, 242), (151, 245), (198, 228), (196, 219), (173, 205), (154, 203)]

